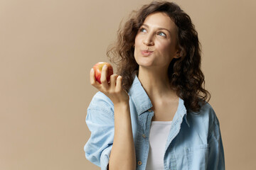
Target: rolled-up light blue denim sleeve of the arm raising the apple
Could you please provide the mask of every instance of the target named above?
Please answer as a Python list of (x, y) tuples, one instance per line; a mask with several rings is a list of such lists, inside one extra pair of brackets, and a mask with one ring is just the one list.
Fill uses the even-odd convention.
[(85, 157), (102, 170), (106, 170), (114, 140), (114, 111), (107, 96), (96, 94), (92, 98), (85, 122), (91, 132), (84, 147)]

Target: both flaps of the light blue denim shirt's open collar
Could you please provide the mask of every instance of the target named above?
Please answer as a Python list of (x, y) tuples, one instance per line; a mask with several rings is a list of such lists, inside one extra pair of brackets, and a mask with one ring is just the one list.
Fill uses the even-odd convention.
[[(132, 83), (131, 88), (129, 89), (128, 94), (136, 107), (138, 115), (141, 115), (142, 113), (149, 110), (149, 108), (151, 108), (153, 106), (150, 101), (149, 96), (146, 94), (146, 91), (144, 90), (144, 88), (136, 74), (135, 74), (134, 81)], [(179, 98), (178, 99), (178, 109), (177, 109), (176, 114), (174, 115), (174, 121), (180, 117), (181, 118), (184, 117), (186, 120), (186, 123), (189, 126), (186, 115), (187, 115), (187, 110), (186, 110), (186, 107), (184, 106), (184, 101), (183, 101), (183, 99)]]

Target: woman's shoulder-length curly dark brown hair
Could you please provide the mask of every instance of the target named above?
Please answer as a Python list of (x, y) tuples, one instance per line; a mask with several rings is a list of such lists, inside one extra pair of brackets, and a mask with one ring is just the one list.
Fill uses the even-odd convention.
[(117, 65), (117, 74), (122, 76), (122, 86), (129, 91), (139, 65), (134, 59), (134, 40), (146, 16), (151, 13), (166, 13), (177, 28), (177, 47), (180, 57), (169, 64), (169, 81), (187, 109), (198, 112), (201, 102), (210, 100), (210, 93), (204, 88), (201, 71), (201, 44), (191, 18), (177, 4), (168, 1), (153, 1), (139, 11), (133, 11), (129, 20), (120, 25), (117, 42), (107, 51), (110, 62)]

